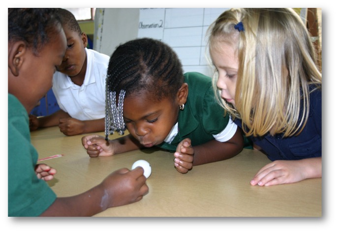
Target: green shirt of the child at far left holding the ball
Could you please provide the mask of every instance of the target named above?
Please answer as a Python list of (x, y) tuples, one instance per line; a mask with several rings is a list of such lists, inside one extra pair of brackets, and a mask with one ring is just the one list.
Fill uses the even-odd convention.
[(8, 216), (39, 216), (56, 200), (56, 194), (34, 168), (37, 151), (31, 145), (28, 114), (8, 94)]

